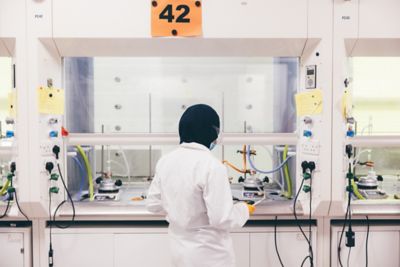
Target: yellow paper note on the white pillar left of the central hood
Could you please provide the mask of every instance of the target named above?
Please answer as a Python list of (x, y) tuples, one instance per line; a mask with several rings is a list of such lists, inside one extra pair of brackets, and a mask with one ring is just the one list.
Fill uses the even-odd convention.
[(39, 87), (37, 89), (39, 113), (64, 114), (64, 90), (57, 88)]

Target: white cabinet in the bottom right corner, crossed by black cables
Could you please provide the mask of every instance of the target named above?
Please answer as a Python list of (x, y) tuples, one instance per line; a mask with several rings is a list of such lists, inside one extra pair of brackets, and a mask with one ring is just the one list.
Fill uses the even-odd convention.
[[(399, 227), (397, 227), (399, 228)], [(340, 266), (337, 254), (340, 240), (341, 228), (334, 227), (332, 233), (332, 266)], [(353, 227), (355, 232), (355, 247), (351, 248), (349, 266), (366, 266), (366, 237), (367, 229), (365, 227)], [(371, 267), (398, 267), (400, 266), (400, 229), (391, 226), (371, 227), (368, 239), (368, 266)], [(341, 261), (343, 266), (347, 265), (349, 248), (345, 246), (346, 235), (343, 235), (341, 246)]]

